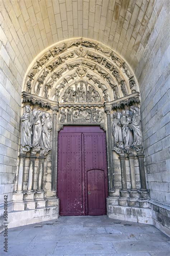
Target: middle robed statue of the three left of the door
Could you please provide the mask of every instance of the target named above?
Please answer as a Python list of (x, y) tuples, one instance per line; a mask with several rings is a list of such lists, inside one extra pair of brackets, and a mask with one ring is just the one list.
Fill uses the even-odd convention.
[(41, 143), (42, 124), (41, 124), (42, 111), (33, 109), (33, 136), (32, 136), (32, 147), (39, 147)]

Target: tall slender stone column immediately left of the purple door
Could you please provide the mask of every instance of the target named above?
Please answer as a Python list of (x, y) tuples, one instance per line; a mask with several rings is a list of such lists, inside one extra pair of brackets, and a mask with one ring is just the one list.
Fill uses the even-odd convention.
[(57, 137), (58, 137), (58, 132), (56, 129), (57, 126), (57, 110), (58, 108), (56, 107), (53, 109), (53, 144), (52, 144), (52, 173), (51, 173), (51, 186), (52, 190), (57, 191), (57, 165), (56, 165), (56, 156), (57, 156)]

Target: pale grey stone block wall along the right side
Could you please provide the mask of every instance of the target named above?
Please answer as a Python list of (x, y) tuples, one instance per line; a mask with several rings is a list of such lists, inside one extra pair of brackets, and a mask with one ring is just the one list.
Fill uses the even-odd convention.
[(161, 204), (152, 207), (158, 228), (161, 225), (169, 226), (165, 205), (170, 204), (170, 47), (167, 2), (162, 5), (136, 69), (141, 93), (141, 122), (148, 188), (151, 200), (162, 203), (162, 208), (165, 208), (165, 211), (161, 209)]

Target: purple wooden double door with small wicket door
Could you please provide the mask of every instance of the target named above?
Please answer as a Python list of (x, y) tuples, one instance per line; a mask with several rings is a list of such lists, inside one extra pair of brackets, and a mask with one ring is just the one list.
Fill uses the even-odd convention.
[(66, 126), (58, 133), (60, 215), (105, 215), (108, 196), (105, 132)]

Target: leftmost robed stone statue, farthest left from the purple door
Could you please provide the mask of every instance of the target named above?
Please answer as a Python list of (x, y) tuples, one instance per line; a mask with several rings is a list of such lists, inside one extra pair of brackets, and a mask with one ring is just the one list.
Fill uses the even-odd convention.
[[(32, 114), (29, 105), (25, 106), (25, 112), (21, 117), (21, 147), (32, 147)], [(24, 151), (24, 150), (23, 150)], [(22, 148), (21, 148), (22, 153)]]

